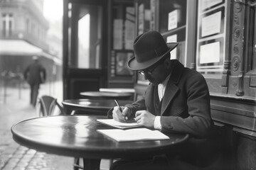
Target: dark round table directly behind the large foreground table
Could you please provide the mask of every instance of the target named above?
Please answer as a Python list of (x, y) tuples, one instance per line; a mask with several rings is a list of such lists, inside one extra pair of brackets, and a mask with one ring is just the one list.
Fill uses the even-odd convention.
[[(120, 100), (119, 104), (124, 106), (133, 101)], [(68, 99), (62, 102), (65, 111), (68, 115), (74, 114), (85, 114), (85, 115), (107, 115), (107, 111), (116, 106), (113, 99), (106, 100), (93, 100), (87, 98), (81, 99)]]

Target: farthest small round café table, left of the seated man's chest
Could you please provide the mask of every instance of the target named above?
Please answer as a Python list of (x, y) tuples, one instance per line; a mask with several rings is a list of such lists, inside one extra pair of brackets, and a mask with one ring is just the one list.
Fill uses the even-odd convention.
[(129, 93), (115, 93), (109, 91), (84, 91), (80, 92), (80, 96), (82, 98), (89, 98), (89, 99), (117, 99), (117, 100), (132, 100), (132, 94)]

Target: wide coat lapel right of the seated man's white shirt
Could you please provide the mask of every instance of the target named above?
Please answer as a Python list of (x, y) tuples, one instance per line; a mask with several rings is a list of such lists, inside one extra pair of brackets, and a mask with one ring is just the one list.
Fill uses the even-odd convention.
[(181, 75), (183, 72), (183, 65), (178, 62), (178, 60), (172, 60), (172, 67), (174, 69), (171, 72), (171, 77), (168, 81), (168, 84), (166, 86), (166, 91), (164, 92), (164, 97), (162, 101), (162, 106), (161, 106), (161, 115), (166, 111), (166, 109), (169, 106), (169, 103), (174, 99), (175, 94), (178, 92), (178, 81), (181, 79)]

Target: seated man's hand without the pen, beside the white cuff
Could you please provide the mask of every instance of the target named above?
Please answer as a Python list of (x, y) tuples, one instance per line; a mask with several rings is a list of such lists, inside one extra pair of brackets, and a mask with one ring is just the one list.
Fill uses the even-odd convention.
[(154, 128), (154, 120), (156, 116), (148, 111), (137, 111), (135, 113), (135, 120), (139, 125), (144, 125), (148, 128)]

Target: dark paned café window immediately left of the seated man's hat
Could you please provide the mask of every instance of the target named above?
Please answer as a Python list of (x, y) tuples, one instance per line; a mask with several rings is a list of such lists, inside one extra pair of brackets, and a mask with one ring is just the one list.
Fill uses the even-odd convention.
[(133, 86), (134, 72), (129, 69), (127, 62), (134, 57), (134, 3), (132, 1), (112, 1), (110, 11), (108, 81), (113, 86), (123, 86), (122, 84)]

